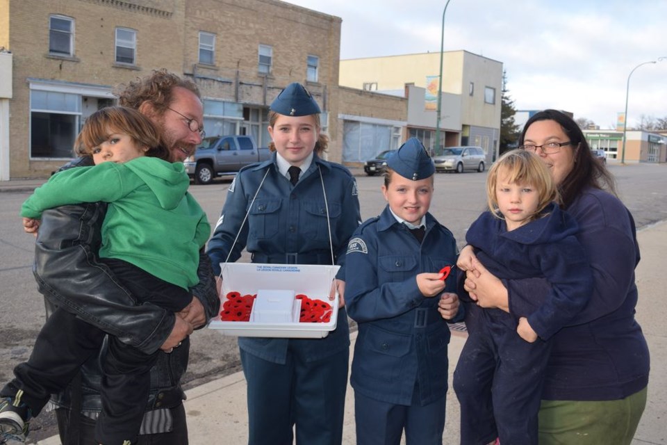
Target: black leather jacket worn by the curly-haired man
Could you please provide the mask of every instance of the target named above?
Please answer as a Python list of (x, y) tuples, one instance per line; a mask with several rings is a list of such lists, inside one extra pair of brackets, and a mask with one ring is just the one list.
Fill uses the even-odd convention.
[[(91, 165), (82, 158), (64, 168)], [(110, 270), (97, 261), (101, 223), (106, 214), (104, 203), (67, 205), (44, 211), (35, 245), (33, 273), (44, 295), (47, 314), (63, 307), (84, 321), (99, 327), (121, 341), (153, 353), (165, 342), (174, 326), (175, 315), (149, 303), (137, 305)], [(220, 310), (213, 270), (208, 256), (199, 257), (199, 284), (190, 289), (199, 298), (208, 321)], [(106, 345), (105, 345), (106, 346)], [(81, 408), (99, 411), (101, 400), (100, 357), (92, 357), (81, 366)], [(151, 369), (151, 391), (147, 410), (175, 407), (184, 394), (181, 377), (188, 366), (190, 341), (185, 339), (170, 354), (161, 353)], [(69, 407), (69, 391), (53, 396), (61, 407)]]

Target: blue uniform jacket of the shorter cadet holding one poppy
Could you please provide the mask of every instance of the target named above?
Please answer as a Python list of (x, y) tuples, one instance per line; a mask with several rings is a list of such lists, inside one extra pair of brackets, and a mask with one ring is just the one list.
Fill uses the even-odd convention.
[[(347, 249), (347, 270), (354, 273), (345, 281), (347, 312), (359, 323), (354, 391), (398, 405), (411, 405), (415, 383), (420, 405), (445, 396), (450, 330), (438, 312), (440, 295), (422, 296), (416, 276), (453, 268), (456, 254), (452, 232), (430, 213), (421, 245), (388, 206), (354, 233)], [(455, 291), (454, 275), (444, 291)], [(454, 321), (462, 318), (459, 309)]]

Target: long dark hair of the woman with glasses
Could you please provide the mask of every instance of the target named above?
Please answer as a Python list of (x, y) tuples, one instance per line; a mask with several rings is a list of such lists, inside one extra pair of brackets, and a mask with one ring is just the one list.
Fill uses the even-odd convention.
[(573, 161), (575, 165), (561, 181), (561, 184), (558, 184), (563, 209), (570, 207), (570, 204), (586, 187), (600, 188), (616, 195), (614, 177), (611, 176), (603, 163), (593, 157), (591, 147), (588, 146), (586, 137), (584, 137), (584, 132), (579, 128), (577, 122), (565, 113), (557, 110), (543, 110), (532, 115), (524, 125), (523, 131), (521, 131), (519, 146), (523, 145), (528, 127), (540, 120), (557, 122), (568, 136), (574, 150)]

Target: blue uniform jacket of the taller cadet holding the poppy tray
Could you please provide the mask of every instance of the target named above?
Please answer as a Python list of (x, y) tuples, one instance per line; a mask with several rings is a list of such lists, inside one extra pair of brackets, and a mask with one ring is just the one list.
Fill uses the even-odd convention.
[[(296, 186), (280, 174), (275, 153), (270, 161), (248, 165), (238, 172), (229, 186), (213, 237), (208, 241), (207, 253), (216, 275), (220, 275), (220, 263), (227, 259), (239, 231), (229, 261), (236, 261), (243, 248), (247, 247), (254, 263), (331, 264), (327, 206), (324, 204), (318, 168), (327, 193), (334, 259), (341, 266), (337, 277), (345, 280), (347, 241), (361, 220), (356, 181), (343, 165), (323, 161), (316, 154)], [(249, 209), (258, 189), (259, 193)], [(248, 209), (248, 219), (241, 227)], [(336, 330), (321, 341), (291, 341), (291, 347), (302, 348), (309, 361), (347, 348), (349, 331), (345, 309), (338, 314)], [(241, 337), (238, 343), (240, 348), (257, 357), (285, 363), (288, 339)]]

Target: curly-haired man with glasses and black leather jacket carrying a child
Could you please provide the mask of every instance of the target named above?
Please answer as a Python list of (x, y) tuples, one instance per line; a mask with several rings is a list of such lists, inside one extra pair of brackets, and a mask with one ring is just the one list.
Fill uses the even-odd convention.
[[(157, 70), (121, 86), (116, 95), (123, 106), (138, 109), (160, 131), (170, 161), (183, 161), (204, 137), (204, 107), (195, 83), (166, 70)], [(92, 165), (83, 157), (63, 168)], [(41, 223), (28, 220), (24, 229), (37, 234), (35, 277), (45, 296), (47, 312), (68, 312), (147, 353), (160, 351), (151, 369), (149, 400), (142, 419), (138, 444), (188, 444), (181, 377), (188, 366), (187, 332), (208, 323), (217, 314), (217, 298), (211, 261), (201, 253), (199, 284), (190, 288), (192, 302), (176, 314), (138, 301), (122, 287), (113, 273), (99, 263), (101, 222), (105, 203), (79, 204), (50, 209)], [(186, 323), (183, 323), (185, 321)], [(60, 344), (77, 339), (53, 339)], [(102, 347), (101, 357), (104, 357)], [(103, 403), (100, 386), (101, 358), (91, 357), (67, 390), (53, 396), (60, 440), (63, 444), (97, 445), (95, 422)], [(27, 428), (26, 428), (27, 431)]]

